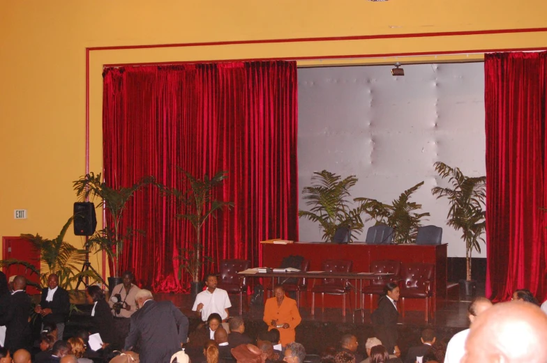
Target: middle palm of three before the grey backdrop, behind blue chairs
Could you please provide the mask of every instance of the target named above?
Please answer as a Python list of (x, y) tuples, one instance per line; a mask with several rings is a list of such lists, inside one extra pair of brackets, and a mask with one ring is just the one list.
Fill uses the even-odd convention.
[(421, 204), (410, 201), (412, 194), (422, 185), (423, 181), (405, 190), (391, 204), (370, 198), (357, 198), (356, 201), (362, 203), (365, 212), (376, 220), (376, 224), (387, 224), (394, 229), (394, 243), (412, 243), (416, 240), (421, 219), (430, 215), (427, 212), (416, 213), (421, 209)]

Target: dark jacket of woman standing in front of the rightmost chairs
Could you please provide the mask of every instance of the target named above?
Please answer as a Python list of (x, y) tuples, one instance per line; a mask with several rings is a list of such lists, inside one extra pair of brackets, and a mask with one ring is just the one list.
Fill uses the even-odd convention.
[(382, 341), (387, 353), (393, 354), (397, 345), (397, 320), (399, 312), (387, 296), (380, 298), (378, 308), (370, 316), (373, 320), (375, 336)]

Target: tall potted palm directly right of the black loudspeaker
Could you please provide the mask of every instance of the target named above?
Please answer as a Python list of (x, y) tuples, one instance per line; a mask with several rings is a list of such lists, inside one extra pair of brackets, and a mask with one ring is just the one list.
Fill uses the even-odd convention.
[[(93, 172), (73, 182), (76, 195), (81, 201), (100, 199), (97, 208), (105, 206), (107, 217), (110, 217), (112, 220), (110, 226), (105, 226), (104, 229), (97, 231), (88, 240), (88, 247), (92, 252), (104, 251), (112, 263), (110, 277), (108, 278), (110, 287), (121, 283), (120, 256), (123, 250), (123, 242), (131, 238), (133, 233), (135, 233), (135, 230), (130, 227), (126, 231), (120, 230), (123, 211), (126, 210), (127, 202), (133, 194), (144, 185), (150, 183), (153, 183), (153, 178), (145, 176), (130, 187), (114, 188), (103, 181), (100, 173), (95, 175)], [(108, 220), (107, 218), (107, 222)]]

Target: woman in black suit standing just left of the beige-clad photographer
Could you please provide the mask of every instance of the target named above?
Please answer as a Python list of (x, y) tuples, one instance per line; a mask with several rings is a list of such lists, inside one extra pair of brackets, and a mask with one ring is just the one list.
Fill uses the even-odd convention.
[(110, 348), (119, 348), (118, 334), (114, 328), (114, 317), (110, 307), (105, 300), (103, 290), (97, 285), (91, 285), (86, 291), (87, 303), (93, 304), (91, 309), (91, 334), (98, 333), (103, 341), (103, 348), (112, 345)]

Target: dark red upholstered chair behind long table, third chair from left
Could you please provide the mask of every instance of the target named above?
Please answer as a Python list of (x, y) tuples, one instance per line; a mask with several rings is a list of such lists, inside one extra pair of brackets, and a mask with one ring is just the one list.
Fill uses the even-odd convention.
[[(351, 272), (352, 261), (327, 260), (321, 263), (325, 272)], [(315, 294), (321, 294), (321, 312), (324, 312), (324, 294), (342, 295), (342, 316), (345, 316), (345, 295), (350, 293), (347, 279), (323, 279), (322, 284), (315, 285), (311, 289), (311, 314), (315, 314)], [(351, 304), (351, 301), (350, 301)]]

